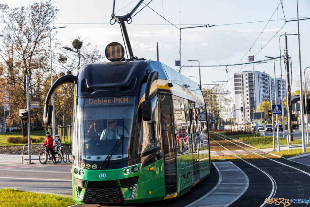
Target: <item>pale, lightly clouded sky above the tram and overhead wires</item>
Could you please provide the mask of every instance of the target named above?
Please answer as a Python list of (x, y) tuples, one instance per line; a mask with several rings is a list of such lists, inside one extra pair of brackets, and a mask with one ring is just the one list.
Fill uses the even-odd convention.
[[(116, 0), (116, 14), (129, 12), (139, 0)], [(145, 0), (148, 3), (150, 0)], [(2, 0), (9, 7), (27, 6), (33, 0)], [(39, 1), (38, 1), (39, 2)], [(53, 0), (53, 5), (59, 9), (54, 21), (57, 29), (57, 39), (62, 46), (72, 46), (70, 43), (78, 36), (87, 38), (87, 42), (97, 46), (104, 54), (106, 45), (119, 42), (124, 45), (118, 24), (110, 25), (112, 0)], [(285, 23), (284, 19), (296, 19), (297, 9), (295, 0), (260, 0), (260, 1), (206, 1), (206, 0), (153, 0), (148, 4), (150, 8), (143, 8), (127, 24), (127, 30), (134, 56), (156, 60), (156, 43), (159, 45), (159, 61), (178, 70), (175, 60), (179, 60), (181, 28), (215, 25), (213, 27), (192, 28), (181, 30), (181, 65), (201, 66), (228, 65), (246, 63), (248, 56), (254, 55), (254, 61), (266, 60), (265, 56), (280, 56), (279, 36), (282, 34), (297, 34), (297, 21)], [(140, 6), (142, 8), (144, 5)], [(137, 10), (139, 11), (140, 8)], [(180, 13), (181, 11), (181, 13)], [(310, 1), (298, 0), (299, 18), (310, 17)], [(166, 21), (165, 19), (168, 21)], [(268, 20), (270, 20), (268, 22)], [(245, 23), (247, 24), (235, 24)], [(255, 23), (254, 23), (255, 22)], [(310, 19), (299, 22), (300, 53), (302, 73), (310, 66)], [(0, 30), (4, 27), (0, 23)], [(177, 28), (176, 28), (177, 27)], [(52, 34), (53, 35), (53, 34)], [(299, 80), (299, 58), (297, 35), (287, 36), (288, 54), (292, 57), (293, 82)], [(284, 54), (284, 37), (281, 37), (281, 54)], [(276, 77), (280, 76), (280, 61), (276, 61)], [(234, 95), (234, 73), (253, 70), (253, 64), (246, 66), (201, 67), (202, 84), (213, 84), (214, 81), (223, 82), (226, 89)], [(274, 76), (273, 62), (254, 65), (254, 70), (266, 72)], [(198, 67), (182, 67), (185, 76), (195, 76), (199, 82)], [(309, 71), (310, 74), (310, 71)], [(285, 78), (285, 66), (282, 61), (282, 77)], [(228, 76), (228, 78), (227, 78)], [(194, 81), (196, 78), (192, 77)], [(295, 84), (296, 85), (296, 84)], [(298, 89), (293, 84), (293, 89)], [(203, 86), (207, 87), (207, 86)], [(210, 87), (210, 86), (209, 86)], [(212, 86), (211, 86), (212, 87)]]

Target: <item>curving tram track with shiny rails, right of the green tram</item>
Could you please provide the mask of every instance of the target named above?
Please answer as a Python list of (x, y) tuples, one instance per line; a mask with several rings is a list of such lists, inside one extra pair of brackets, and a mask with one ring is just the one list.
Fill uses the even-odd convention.
[[(310, 184), (308, 184), (308, 180), (310, 176), (309, 166), (303, 163), (288, 160), (286, 158), (274, 160), (274, 159), (271, 159), (270, 156), (276, 156), (278, 158), (283, 158), (283, 157), (263, 151), (265, 153), (268, 153), (267, 156), (269, 157), (267, 157), (259, 153), (256, 153), (255, 151), (247, 149), (246, 147), (243, 147), (247, 145), (245, 143), (241, 143), (240, 141), (231, 139), (230, 137), (226, 137), (225, 135), (221, 135), (217, 133), (212, 133), (212, 135), (214, 136), (213, 138), (210, 137), (210, 140), (213, 140), (218, 145), (225, 148), (227, 151), (230, 151), (230, 153), (234, 154), (244, 163), (247, 163), (251, 165), (252, 167), (255, 167), (256, 169), (260, 170), (271, 180), (272, 190), (269, 195), (269, 198), (285, 198), (285, 197), (292, 198), (292, 196), (294, 198), (305, 198), (305, 196), (309, 193), (309, 190), (308, 190), (310, 187)], [(241, 144), (243, 146), (241, 146)], [(255, 161), (253, 160), (246, 161), (245, 159), (238, 156), (232, 151), (231, 145), (235, 145), (235, 147), (233, 147), (234, 150), (236, 149), (236, 147), (243, 148), (244, 150), (251, 151), (251, 153), (254, 153), (256, 154), (256, 156), (260, 156), (264, 159), (255, 160)], [(248, 168), (240, 162), (238, 162), (237, 165), (239, 165), (239, 167), (242, 166), (244, 169)], [(232, 206), (238, 206), (240, 205), (240, 203), (244, 202), (244, 200), (246, 199), (247, 199), (247, 195), (244, 195), (244, 198), (241, 198), (240, 200), (238, 200), (237, 203), (233, 203)], [(266, 203), (261, 204), (261, 206), (265, 206), (265, 205)]]

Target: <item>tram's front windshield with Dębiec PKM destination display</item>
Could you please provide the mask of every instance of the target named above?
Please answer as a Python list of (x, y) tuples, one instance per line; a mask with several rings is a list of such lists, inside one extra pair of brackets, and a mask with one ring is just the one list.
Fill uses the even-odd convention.
[(102, 163), (122, 136), (122, 143), (110, 161), (128, 159), (135, 103), (136, 97), (78, 98), (81, 162)]

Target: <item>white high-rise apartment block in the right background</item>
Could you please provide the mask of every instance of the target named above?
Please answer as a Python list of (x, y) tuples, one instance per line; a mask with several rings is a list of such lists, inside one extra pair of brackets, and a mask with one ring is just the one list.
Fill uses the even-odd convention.
[[(254, 71), (254, 76), (253, 71), (235, 73), (234, 82), (236, 124), (250, 123), (252, 118), (250, 112), (264, 100), (272, 100), (272, 104), (275, 104), (274, 78), (266, 72)], [(277, 104), (281, 104), (281, 90), (283, 99), (286, 96), (285, 84), (285, 79), (282, 79), (281, 87), (281, 78), (276, 78)], [(241, 112), (238, 109), (243, 110)]]

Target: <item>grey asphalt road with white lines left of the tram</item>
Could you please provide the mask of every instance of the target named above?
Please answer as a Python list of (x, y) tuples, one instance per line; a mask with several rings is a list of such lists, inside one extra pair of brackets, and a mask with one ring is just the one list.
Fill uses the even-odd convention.
[(0, 165), (0, 188), (72, 196), (71, 163)]

